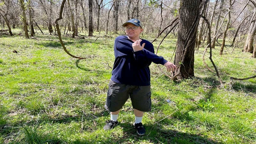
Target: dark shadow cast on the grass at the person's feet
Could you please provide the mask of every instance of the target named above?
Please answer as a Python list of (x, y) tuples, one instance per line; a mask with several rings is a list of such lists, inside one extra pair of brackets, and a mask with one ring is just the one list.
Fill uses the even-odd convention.
[(150, 143), (170, 143), (170, 144), (217, 144), (219, 142), (213, 141), (211, 139), (202, 137), (196, 134), (189, 134), (184, 132), (179, 132), (175, 130), (166, 130), (159, 125), (145, 124), (146, 129), (145, 135), (138, 135), (136, 130), (130, 123), (121, 123), (119, 126), (123, 127), (123, 133), (125, 135), (113, 141), (114, 143), (124, 143), (124, 142), (150, 142)]

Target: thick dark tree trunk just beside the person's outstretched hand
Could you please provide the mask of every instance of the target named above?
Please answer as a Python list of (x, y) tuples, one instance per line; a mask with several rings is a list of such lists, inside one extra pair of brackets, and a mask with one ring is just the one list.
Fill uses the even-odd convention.
[(194, 76), (194, 52), (196, 32), (199, 24), (201, 0), (181, 0), (179, 9), (179, 30), (174, 64), (178, 79)]

